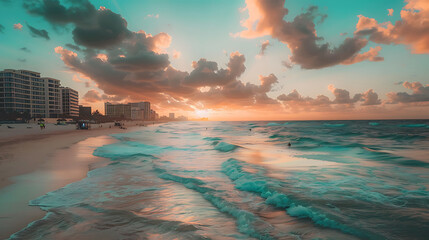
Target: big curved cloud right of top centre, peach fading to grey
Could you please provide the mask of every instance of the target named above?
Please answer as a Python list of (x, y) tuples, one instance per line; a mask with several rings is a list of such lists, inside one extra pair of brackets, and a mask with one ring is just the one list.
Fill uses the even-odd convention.
[[(322, 37), (316, 33), (315, 23), (323, 22), (326, 15), (318, 13), (312, 6), (304, 13), (298, 14), (293, 21), (284, 20), (289, 10), (284, 8), (285, 0), (246, 0), (248, 19), (242, 21), (246, 30), (236, 34), (244, 38), (271, 35), (287, 44), (292, 52), (290, 60), (305, 69), (319, 69), (341, 64), (367, 60), (356, 55), (368, 41), (360, 37), (346, 38), (339, 46), (332, 48), (329, 43), (319, 42)], [(365, 56), (365, 55), (364, 55)], [(350, 59), (354, 58), (355, 61)]]

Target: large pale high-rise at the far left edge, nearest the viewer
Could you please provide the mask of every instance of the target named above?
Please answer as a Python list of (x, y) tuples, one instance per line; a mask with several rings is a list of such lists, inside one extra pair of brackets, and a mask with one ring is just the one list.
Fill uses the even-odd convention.
[(40, 73), (5, 69), (0, 72), (0, 111), (29, 113), (49, 117), (46, 111), (45, 84)]

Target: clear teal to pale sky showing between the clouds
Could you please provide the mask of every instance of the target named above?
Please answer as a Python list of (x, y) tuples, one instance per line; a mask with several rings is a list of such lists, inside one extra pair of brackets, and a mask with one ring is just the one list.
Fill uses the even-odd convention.
[[(67, 1), (60, 1), (67, 2)], [(156, 35), (165, 32), (171, 36), (171, 44), (165, 51), (169, 54), (171, 66), (181, 71), (191, 72), (192, 61), (205, 58), (217, 62), (219, 67), (226, 68), (229, 54), (240, 52), (246, 58), (246, 71), (240, 76), (243, 83), (259, 85), (259, 75), (273, 73), (278, 83), (267, 95), (276, 98), (296, 89), (302, 96), (316, 97), (323, 94), (332, 97), (328, 85), (346, 89), (351, 96), (373, 89), (380, 99), (386, 99), (389, 92), (409, 92), (398, 82), (420, 82), (429, 84), (429, 55), (413, 54), (407, 44), (379, 44), (370, 41), (362, 52), (370, 47), (381, 46), (379, 56), (384, 61), (363, 61), (352, 65), (334, 65), (321, 69), (303, 69), (295, 64), (292, 69), (282, 66), (281, 62), (291, 56), (288, 46), (278, 39), (266, 35), (258, 38), (233, 37), (233, 34), (244, 31), (240, 21), (248, 17), (247, 11), (240, 11), (246, 6), (245, 1), (230, 0), (111, 0), (90, 1), (97, 9), (104, 6), (120, 14), (133, 32), (143, 30)], [(0, 24), (4, 26), (0, 33), (0, 68), (29, 69), (41, 72), (43, 76), (60, 79), (62, 85), (79, 91), (81, 99), (89, 90), (103, 93), (91, 81), (90, 87), (83, 82), (73, 80), (77, 73), (69, 70), (55, 53), (55, 48), (75, 44), (73, 26), (60, 27), (47, 22), (40, 16), (30, 15), (22, 6), (22, 1), (0, 1)], [(406, 5), (403, 0), (287, 0), (285, 8), (289, 10), (286, 21), (316, 5), (319, 12), (326, 14), (323, 23), (316, 23), (317, 36), (324, 38), (331, 47), (340, 45), (346, 37), (352, 37), (356, 31), (358, 15), (374, 18), (379, 23), (400, 21), (400, 11)], [(393, 9), (393, 16), (388, 10)], [(152, 15), (152, 17), (150, 17)], [(155, 17), (158, 16), (158, 17)], [(23, 25), (22, 30), (14, 29), (14, 24)], [(44, 29), (50, 40), (33, 37), (28, 25)], [(347, 33), (344, 36), (340, 34)], [(428, 38), (429, 39), (429, 38)], [(258, 56), (263, 41), (269, 40), (270, 46), (264, 56)], [(21, 48), (27, 48), (25, 52)], [(174, 52), (180, 57), (173, 58)], [(80, 57), (80, 53), (78, 53)], [(101, 106), (94, 104), (94, 106)], [(102, 110), (102, 109), (100, 109)], [(427, 110), (427, 107), (426, 107)], [(160, 110), (161, 111), (161, 110)], [(167, 110), (165, 110), (167, 111)], [(162, 112), (162, 111), (161, 111)], [(162, 112), (163, 113), (163, 112)], [(189, 115), (188, 113), (185, 113)], [(192, 114), (190, 116), (193, 116)]]

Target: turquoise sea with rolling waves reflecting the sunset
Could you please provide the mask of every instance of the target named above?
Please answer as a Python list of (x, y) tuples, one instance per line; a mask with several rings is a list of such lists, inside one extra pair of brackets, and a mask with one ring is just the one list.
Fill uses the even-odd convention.
[[(427, 239), (429, 121), (173, 122), (34, 199), (12, 239)], [(288, 146), (291, 143), (291, 146)]]

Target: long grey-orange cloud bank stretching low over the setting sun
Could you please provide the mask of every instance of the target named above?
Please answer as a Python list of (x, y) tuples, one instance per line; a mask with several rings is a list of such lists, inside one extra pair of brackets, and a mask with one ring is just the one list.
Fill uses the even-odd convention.
[(104, 56), (89, 52), (80, 59), (77, 54), (62, 47), (56, 48), (56, 52), (61, 54), (62, 60), (69, 68), (90, 77), (106, 94), (122, 99), (144, 98), (160, 106), (181, 106), (181, 109), (188, 110), (190, 106), (229, 108), (278, 103), (267, 96), (272, 85), (277, 83), (274, 75), (260, 76), (260, 85), (238, 80), (245, 71), (245, 58), (238, 52), (231, 54), (225, 69), (218, 69), (215, 62), (200, 59), (194, 62), (194, 70), (191, 73), (171, 66), (165, 69), (141, 67), (138, 71), (124, 71), (123, 66), (109, 60), (113, 53), (123, 53), (120, 49), (108, 51), (106, 57), (109, 57), (104, 60), (100, 59)]

